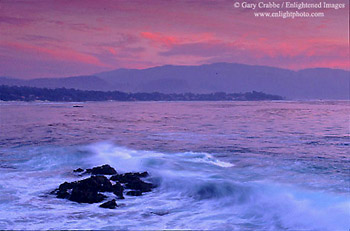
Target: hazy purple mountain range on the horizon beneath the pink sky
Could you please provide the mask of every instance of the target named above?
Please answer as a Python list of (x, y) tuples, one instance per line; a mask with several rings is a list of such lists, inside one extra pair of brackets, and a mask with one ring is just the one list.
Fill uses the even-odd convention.
[(259, 91), (286, 99), (349, 99), (350, 72), (330, 68), (293, 71), (268, 66), (213, 63), (117, 69), (63, 78), (23, 80), (0, 77), (0, 85), (160, 93)]

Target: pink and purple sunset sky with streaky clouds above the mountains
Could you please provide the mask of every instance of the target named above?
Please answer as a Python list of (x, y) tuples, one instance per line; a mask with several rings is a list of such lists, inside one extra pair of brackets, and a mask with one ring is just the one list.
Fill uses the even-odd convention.
[(294, 19), (254, 17), (273, 10), (235, 2), (244, 1), (0, 0), (0, 76), (216, 62), (349, 70), (348, 0), (328, 1), (345, 9), (298, 10), (324, 17)]

